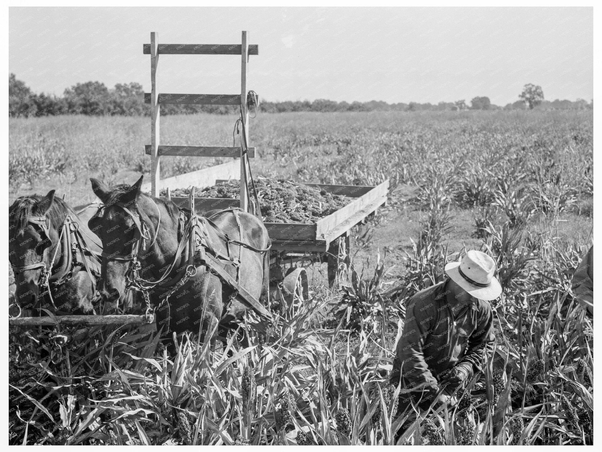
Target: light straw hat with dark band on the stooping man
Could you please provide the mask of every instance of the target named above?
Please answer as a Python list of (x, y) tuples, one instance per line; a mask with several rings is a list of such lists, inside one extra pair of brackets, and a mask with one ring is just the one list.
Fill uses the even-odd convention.
[(494, 277), (495, 270), (495, 261), (476, 250), (468, 251), (460, 262), (445, 265), (445, 273), (458, 286), (473, 297), (488, 301), (495, 300), (501, 293), (500, 283)]

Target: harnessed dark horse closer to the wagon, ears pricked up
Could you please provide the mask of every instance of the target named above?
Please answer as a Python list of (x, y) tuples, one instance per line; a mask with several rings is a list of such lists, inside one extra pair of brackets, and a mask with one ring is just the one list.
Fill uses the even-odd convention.
[[(249, 304), (206, 265), (188, 265), (189, 254), (182, 250), (188, 240), (184, 225), (191, 220), (190, 211), (141, 193), (142, 177), (132, 186), (111, 188), (90, 180), (105, 204), (104, 212), (99, 210), (88, 222), (104, 248), (104, 300), (123, 297), (128, 289), (140, 290), (155, 309), (157, 329), (163, 328), (161, 336), (191, 331), (203, 341), (209, 332), (214, 344), (217, 328), (233, 327)], [(206, 227), (203, 234), (211, 254), (223, 257), (220, 268), (255, 300), (267, 297), (269, 238), (263, 223), (249, 213), (232, 210), (211, 220), (216, 227)], [(202, 222), (211, 224), (206, 219)]]

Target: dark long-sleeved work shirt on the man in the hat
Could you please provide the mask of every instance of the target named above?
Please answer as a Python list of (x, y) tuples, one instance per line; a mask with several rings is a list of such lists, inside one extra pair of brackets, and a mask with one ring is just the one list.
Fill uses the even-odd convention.
[(409, 300), (392, 383), (397, 384), (401, 374), (406, 388), (436, 392), (442, 372), (462, 364), (472, 378), (482, 370), (483, 350), (492, 353), (495, 337), (489, 303), (477, 298), (460, 303), (446, 287), (442, 281)]

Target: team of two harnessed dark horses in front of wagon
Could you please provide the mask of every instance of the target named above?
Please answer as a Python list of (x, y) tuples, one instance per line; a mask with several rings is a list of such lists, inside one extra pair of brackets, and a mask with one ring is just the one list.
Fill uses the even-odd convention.
[(20, 315), (154, 312), (161, 336), (190, 331), (212, 344), (247, 309), (271, 318), (261, 218), (237, 208), (199, 216), (141, 192), (142, 180), (107, 187), (91, 178), (102, 203), (75, 209), (55, 190), (13, 202)]

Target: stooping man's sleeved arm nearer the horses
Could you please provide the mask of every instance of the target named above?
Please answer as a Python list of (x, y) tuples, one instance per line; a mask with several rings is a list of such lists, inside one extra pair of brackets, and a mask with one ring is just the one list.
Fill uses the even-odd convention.
[(393, 365), (397, 381), (392, 383), (397, 384), (401, 375), (412, 388), (420, 386), (423, 391), (435, 393), (438, 391), (437, 380), (430, 372), (423, 353), (424, 339), (430, 332), (429, 310), (420, 310), (417, 304), (417, 301), (412, 300), (406, 310), (403, 333), (397, 343)]

